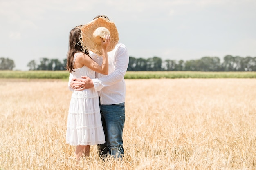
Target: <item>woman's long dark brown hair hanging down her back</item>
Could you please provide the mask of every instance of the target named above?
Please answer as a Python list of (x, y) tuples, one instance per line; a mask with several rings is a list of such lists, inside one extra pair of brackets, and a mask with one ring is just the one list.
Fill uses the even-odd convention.
[(89, 56), (88, 50), (86, 49), (85, 51), (83, 51), (83, 48), (80, 43), (81, 26), (83, 25), (76, 26), (70, 31), (70, 37), (69, 37), (69, 43), (68, 43), (69, 46), (67, 51), (67, 65), (66, 65), (66, 68), (70, 73), (74, 71), (73, 62), (74, 62), (75, 53), (83, 52)]

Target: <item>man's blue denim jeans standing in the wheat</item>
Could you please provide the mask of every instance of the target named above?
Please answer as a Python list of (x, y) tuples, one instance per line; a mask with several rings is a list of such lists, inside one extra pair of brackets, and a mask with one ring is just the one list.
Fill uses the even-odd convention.
[(125, 105), (111, 104), (100, 105), (101, 121), (105, 133), (105, 144), (97, 146), (100, 157), (104, 159), (107, 155), (114, 158), (124, 156), (123, 129), (125, 121)]

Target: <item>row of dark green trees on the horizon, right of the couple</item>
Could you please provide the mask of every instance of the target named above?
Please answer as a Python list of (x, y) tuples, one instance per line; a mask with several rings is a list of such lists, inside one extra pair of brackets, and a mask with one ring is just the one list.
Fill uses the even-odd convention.
[(197, 60), (162, 60), (130, 57), (128, 71), (256, 71), (256, 57), (202, 57)]

